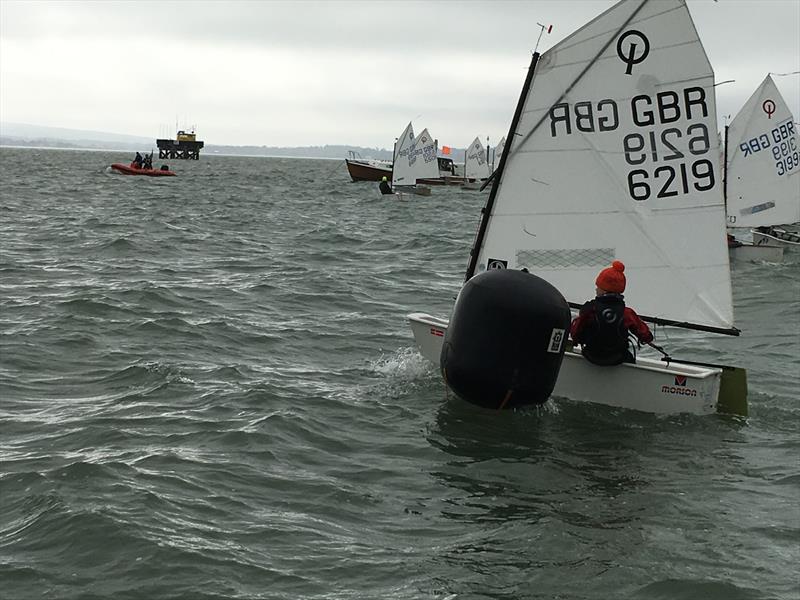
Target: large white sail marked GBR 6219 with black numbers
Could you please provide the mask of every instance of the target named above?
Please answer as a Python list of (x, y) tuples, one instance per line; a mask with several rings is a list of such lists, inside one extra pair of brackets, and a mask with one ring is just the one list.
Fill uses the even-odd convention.
[(728, 329), (719, 152), (685, 1), (623, 0), (540, 57), (472, 271), (527, 267), (579, 303), (619, 259), (639, 314)]

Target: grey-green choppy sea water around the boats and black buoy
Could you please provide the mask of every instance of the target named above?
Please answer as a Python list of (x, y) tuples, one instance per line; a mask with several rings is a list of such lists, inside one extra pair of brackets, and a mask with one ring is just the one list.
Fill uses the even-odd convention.
[[(452, 398), (484, 196), (342, 161), (0, 149), (0, 596), (796, 599), (800, 256), (736, 265), (751, 417)], [(666, 332), (663, 332), (666, 333)]]

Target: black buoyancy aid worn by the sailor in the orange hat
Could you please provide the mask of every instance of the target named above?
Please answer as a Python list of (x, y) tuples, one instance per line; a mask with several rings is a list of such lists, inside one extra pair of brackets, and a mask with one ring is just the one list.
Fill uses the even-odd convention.
[(628, 353), (628, 329), (625, 327), (625, 301), (619, 294), (604, 294), (591, 300), (593, 318), (581, 338), (582, 353), (596, 365), (619, 365)]

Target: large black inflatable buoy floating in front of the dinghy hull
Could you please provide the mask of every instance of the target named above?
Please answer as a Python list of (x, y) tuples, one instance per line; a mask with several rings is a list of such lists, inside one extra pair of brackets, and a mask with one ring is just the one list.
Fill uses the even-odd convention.
[(543, 404), (564, 358), (569, 304), (544, 279), (512, 269), (472, 277), (461, 289), (440, 365), (451, 390), (486, 408)]

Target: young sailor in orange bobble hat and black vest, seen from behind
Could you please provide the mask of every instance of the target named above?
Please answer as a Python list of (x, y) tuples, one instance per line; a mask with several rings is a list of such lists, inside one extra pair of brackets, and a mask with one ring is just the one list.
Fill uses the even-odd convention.
[(625, 306), (625, 265), (615, 260), (595, 280), (597, 297), (584, 304), (570, 326), (570, 336), (581, 345), (581, 354), (600, 366), (636, 362), (636, 347), (653, 341), (647, 324)]

